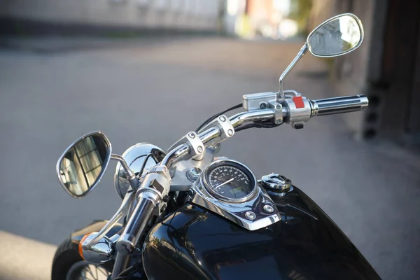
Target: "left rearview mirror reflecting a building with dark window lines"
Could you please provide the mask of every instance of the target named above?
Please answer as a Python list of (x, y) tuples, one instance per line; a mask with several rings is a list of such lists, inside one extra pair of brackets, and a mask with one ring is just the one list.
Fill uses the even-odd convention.
[(76, 140), (57, 162), (57, 176), (72, 197), (87, 195), (99, 183), (111, 159), (111, 143), (102, 132)]

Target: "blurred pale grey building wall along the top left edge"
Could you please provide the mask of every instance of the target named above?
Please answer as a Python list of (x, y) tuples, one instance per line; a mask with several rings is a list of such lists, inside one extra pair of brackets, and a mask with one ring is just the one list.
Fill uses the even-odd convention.
[(1, 18), (40, 22), (216, 30), (219, 5), (200, 0), (0, 0)]

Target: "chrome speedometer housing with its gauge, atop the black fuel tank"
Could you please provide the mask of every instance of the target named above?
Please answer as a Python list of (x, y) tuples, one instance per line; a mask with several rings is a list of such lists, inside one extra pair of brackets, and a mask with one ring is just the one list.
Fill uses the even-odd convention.
[[(218, 179), (216, 176), (211, 180), (212, 172), (220, 167), (222, 167), (222, 172), (216, 175), (219, 176), (220, 173), (223, 173), (222, 178)], [(232, 167), (234, 170), (230, 172), (228, 170), (229, 167)], [(235, 179), (235, 176), (231, 175), (235, 174), (235, 171), (238, 174), (239, 172), (243, 174)], [(247, 178), (243, 179), (244, 176)], [(240, 197), (232, 197), (220, 190), (216, 190), (218, 186), (226, 186), (232, 178), (239, 182), (248, 180), (249, 182), (245, 184), (249, 186), (248, 191), (240, 195)], [(239, 186), (244, 186), (244, 184), (239, 184)], [(235, 188), (237, 186), (231, 186), (226, 191), (235, 190)], [(258, 184), (251, 169), (241, 164), (241, 162), (228, 158), (216, 160), (205, 167), (200, 174), (200, 178), (193, 183), (189, 197), (190, 202), (193, 204), (209, 209), (247, 230), (260, 230), (281, 219), (279, 210), (264, 188)]]

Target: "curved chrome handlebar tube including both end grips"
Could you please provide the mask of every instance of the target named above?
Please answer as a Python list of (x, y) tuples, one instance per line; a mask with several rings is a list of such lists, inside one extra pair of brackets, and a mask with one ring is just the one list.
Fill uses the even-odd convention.
[[(306, 100), (307, 102), (304, 102), (304, 104), (308, 104), (307, 108), (302, 108), (297, 105), (283, 106), (282, 113), (286, 123), (292, 123), (294, 113), (300, 118), (300, 120), (309, 120), (309, 118), (314, 116), (323, 116), (332, 113), (360, 111), (366, 109), (368, 104), (367, 97), (363, 95), (318, 100)], [(288, 104), (290, 104), (290, 100), (288, 101)], [(244, 122), (253, 122), (257, 120), (273, 120), (275, 117), (275, 113), (276, 111), (274, 109), (246, 111), (230, 117), (229, 120), (232, 127), (235, 128), (239, 127), (239, 125), (243, 124)], [(304, 113), (306, 115), (304, 115)], [(295, 119), (296, 118), (297, 117), (295, 117)], [(198, 137), (200, 137), (200, 140), (202, 141), (202, 144), (204, 146), (209, 146), (210, 144), (214, 143), (214, 141), (211, 140), (216, 139), (216, 137), (220, 137), (221, 133), (223, 132), (219, 127), (210, 127), (207, 130), (200, 132), (200, 134), (198, 134)], [(172, 149), (172, 151), (169, 151), (169, 153), (167, 153), (162, 162), (160, 162), (160, 164), (156, 167), (163, 168), (165, 169), (165, 172), (167, 172), (167, 170), (169, 170), (176, 162), (186, 160), (188, 156), (190, 156), (190, 151), (191, 148), (187, 143), (181, 144), (176, 148)], [(152, 169), (153, 168), (154, 167), (152, 167)], [(160, 172), (161, 175), (163, 174), (162, 176), (166, 174), (164, 173)], [(168, 174), (169, 172), (166, 174), (166, 176), (168, 176)], [(134, 251), (139, 242), (139, 239), (144, 234), (144, 230), (153, 214), (153, 211), (155, 210), (155, 208), (158, 207), (158, 205), (162, 201), (162, 197), (165, 196), (165, 194), (162, 193), (160, 193), (160, 195), (156, 195), (156, 188), (152, 189), (151, 185), (147, 182), (148, 180), (146, 179), (141, 181), (141, 186), (137, 189), (136, 194), (137, 204), (135, 204), (130, 219), (127, 222), (127, 225), (125, 225), (123, 234), (120, 236), (120, 239), (118, 239), (116, 244), (118, 253), (122, 253), (123, 255)], [(160, 185), (158, 184), (158, 186)]]

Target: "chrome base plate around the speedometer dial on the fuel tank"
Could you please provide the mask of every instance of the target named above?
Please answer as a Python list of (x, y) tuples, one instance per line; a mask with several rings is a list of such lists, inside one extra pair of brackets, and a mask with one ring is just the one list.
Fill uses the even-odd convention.
[[(239, 164), (242, 165), (241, 163)], [(260, 228), (265, 228), (268, 225), (272, 225), (281, 220), (279, 210), (276, 208), (274, 202), (272, 202), (269, 195), (258, 184), (255, 188), (255, 195), (247, 201), (235, 203), (224, 202), (214, 197), (214, 195), (207, 190), (207, 187), (204, 186), (202, 182), (204, 174), (205, 172), (202, 172), (200, 179), (193, 183), (193, 191), (190, 192), (191, 202), (200, 205), (205, 209), (209, 209), (247, 230), (259, 230)], [(272, 207), (274, 210), (273, 213), (262, 211), (265, 205)], [(251, 221), (246, 217), (246, 212), (248, 211), (255, 214), (254, 220)]]

